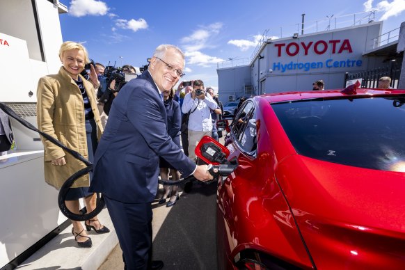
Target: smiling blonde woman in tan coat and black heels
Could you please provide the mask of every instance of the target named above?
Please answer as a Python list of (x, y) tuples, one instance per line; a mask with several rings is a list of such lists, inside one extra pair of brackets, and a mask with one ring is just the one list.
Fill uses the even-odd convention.
[[(93, 162), (97, 141), (102, 134), (94, 89), (99, 84), (97, 74), (93, 66), (91, 82), (80, 74), (90, 60), (86, 48), (77, 42), (63, 42), (59, 58), (63, 66), (58, 74), (47, 75), (38, 82), (38, 128)], [(45, 148), (45, 181), (60, 189), (70, 175), (85, 165), (47, 139), (42, 138), (42, 143)], [(67, 193), (65, 204), (71, 212), (79, 214), (79, 198), (84, 198), (88, 212), (95, 209), (95, 193), (88, 193), (90, 177), (80, 177)], [(81, 223), (72, 221), (72, 224), (72, 234), (77, 244), (90, 248), (91, 239)], [(85, 221), (85, 225), (88, 231), (93, 228), (97, 233), (109, 232), (97, 217)]]

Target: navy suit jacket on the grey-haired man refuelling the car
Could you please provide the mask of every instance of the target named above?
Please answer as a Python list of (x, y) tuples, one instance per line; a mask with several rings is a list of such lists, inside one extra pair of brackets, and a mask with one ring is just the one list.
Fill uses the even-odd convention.
[(164, 102), (149, 71), (129, 81), (111, 106), (106, 129), (95, 152), (91, 192), (126, 203), (154, 200), (159, 156), (182, 175), (196, 164), (167, 133)]

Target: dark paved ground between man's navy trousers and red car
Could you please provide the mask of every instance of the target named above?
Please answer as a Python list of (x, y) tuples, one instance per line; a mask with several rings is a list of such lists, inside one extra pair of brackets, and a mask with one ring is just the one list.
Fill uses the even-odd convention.
[[(154, 260), (164, 269), (216, 269), (216, 184), (193, 184), (173, 207), (155, 200), (152, 208)], [(99, 268), (110, 269), (124, 269), (119, 245)]]

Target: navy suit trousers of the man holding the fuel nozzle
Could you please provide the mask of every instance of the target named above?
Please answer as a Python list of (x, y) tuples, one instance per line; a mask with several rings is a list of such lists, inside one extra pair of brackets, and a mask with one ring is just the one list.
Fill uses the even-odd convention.
[(152, 262), (150, 202), (125, 203), (104, 196), (120, 241), (125, 269), (149, 269)]

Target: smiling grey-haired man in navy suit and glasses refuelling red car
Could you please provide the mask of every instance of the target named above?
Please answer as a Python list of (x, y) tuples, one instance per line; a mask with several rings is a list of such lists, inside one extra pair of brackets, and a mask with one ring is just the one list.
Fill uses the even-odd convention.
[(95, 153), (90, 192), (103, 193), (120, 241), (125, 269), (161, 269), (152, 262), (152, 208), (157, 193), (159, 156), (184, 176), (211, 180), (207, 166), (196, 166), (171, 140), (161, 99), (183, 76), (184, 54), (173, 45), (154, 51), (148, 70), (129, 81), (111, 106)]

